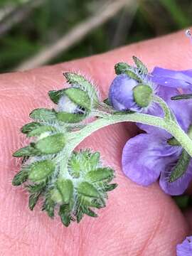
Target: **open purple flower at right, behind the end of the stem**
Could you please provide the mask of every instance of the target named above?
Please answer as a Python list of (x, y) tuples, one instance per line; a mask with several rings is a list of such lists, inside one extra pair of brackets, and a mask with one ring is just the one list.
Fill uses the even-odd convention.
[[(156, 68), (154, 70), (156, 70)], [(162, 72), (162, 70), (163, 69), (161, 69), (162, 76), (166, 76), (167, 73), (171, 72), (176, 75), (176, 71), (164, 70), (164, 72)], [(190, 72), (190, 70), (185, 71), (185, 73), (188, 74)], [(168, 84), (170, 87), (159, 86), (159, 90), (157, 90), (156, 94), (167, 102), (176, 115), (178, 124), (187, 132), (192, 120), (192, 104), (187, 100), (179, 102), (170, 100), (172, 96), (179, 94), (176, 87), (180, 80), (178, 82), (176, 81), (175, 78), (175, 84), (174, 82)], [(158, 80), (156, 77), (156, 82), (161, 84), (161, 78)], [(183, 89), (183, 92), (189, 92), (188, 85), (186, 89)], [(159, 117), (162, 117), (164, 114), (158, 105), (149, 107), (147, 113)], [(160, 176), (160, 186), (166, 193), (171, 195), (183, 193), (192, 179), (191, 157), (188, 156), (186, 152), (183, 152), (181, 146), (171, 146), (171, 144), (168, 143), (168, 140), (171, 139), (171, 134), (164, 131), (164, 129), (144, 124), (139, 124), (139, 127), (143, 129), (146, 134), (139, 134), (129, 139), (127, 144), (125, 144), (122, 152), (122, 170), (124, 174), (131, 178), (132, 181), (142, 186), (150, 185), (154, 181), (157, 181)], [(176, 181), (170, 182), (170, 176), (173, 171), (181, 167), (178, 166), (179, 159), (185, 162), (185, 165), (182, 166), (184, 174), (178, 177)]]

